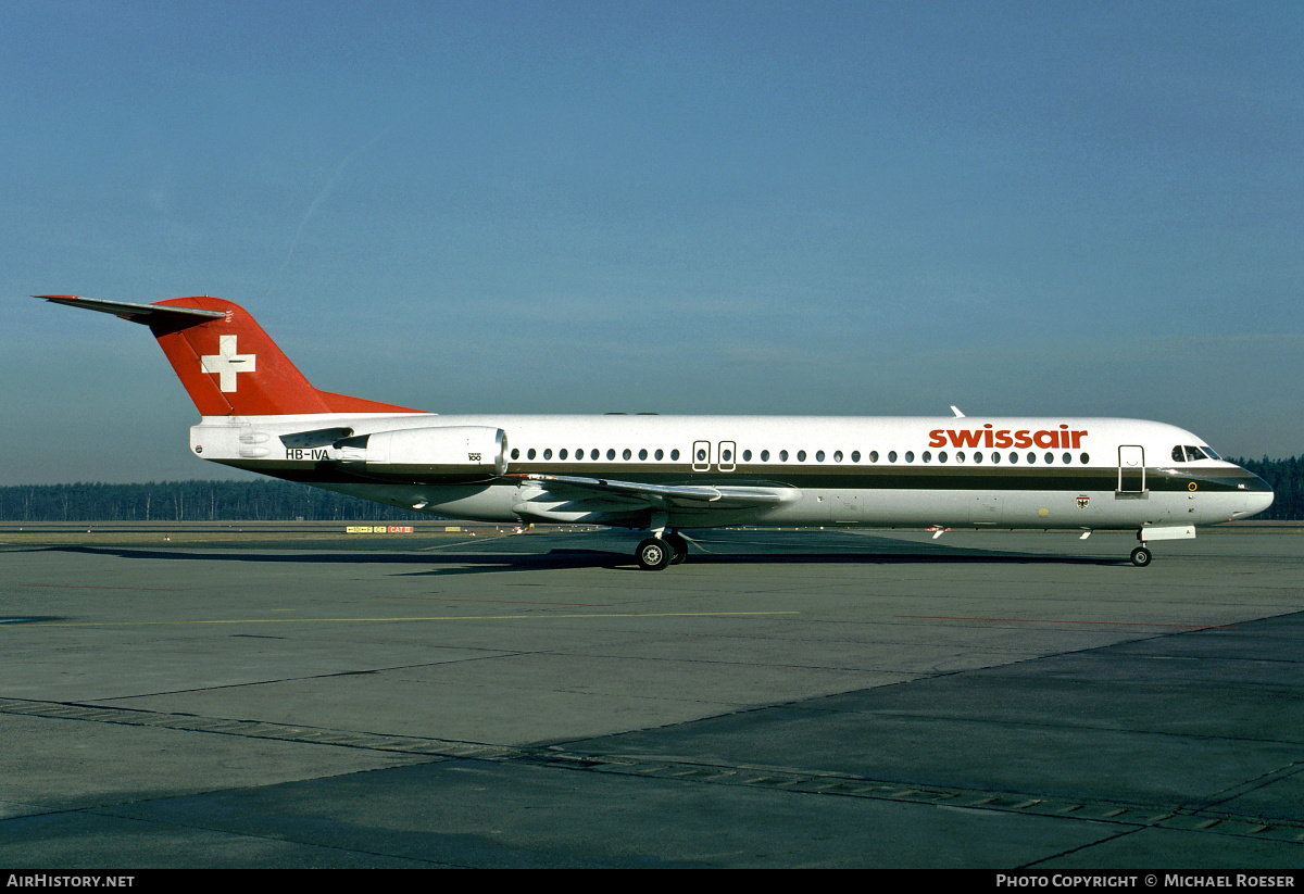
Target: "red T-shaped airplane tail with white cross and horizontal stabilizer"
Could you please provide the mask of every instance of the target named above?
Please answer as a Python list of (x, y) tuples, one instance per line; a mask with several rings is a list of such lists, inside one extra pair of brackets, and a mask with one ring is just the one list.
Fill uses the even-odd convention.
[(202, 416), (420, 412), (318, 391), (244, 308), (222, 298), (124, 304), (37, 297), (149, 326)]

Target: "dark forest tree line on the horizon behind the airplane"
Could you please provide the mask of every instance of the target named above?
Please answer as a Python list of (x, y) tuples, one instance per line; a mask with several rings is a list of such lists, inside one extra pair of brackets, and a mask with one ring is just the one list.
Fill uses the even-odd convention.
[[(1304, 519), (1304, 456), (1234, 459), (1264, 478), (1277, 499), (1260, 519)], [(151, 481), (143, 485), (0, 487), (0, 521), (376, 521), (429, 520), (395, 506), (273, 478)]]

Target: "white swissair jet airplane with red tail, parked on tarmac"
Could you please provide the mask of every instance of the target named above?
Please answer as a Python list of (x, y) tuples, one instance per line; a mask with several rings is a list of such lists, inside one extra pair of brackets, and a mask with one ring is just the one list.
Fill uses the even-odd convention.
[(1134, 530), (1151, 541), (1273, 503), (1258, 476), (1162, 422), (1082, 417), (441, 416), (318, 391), (243, 308), (33, 296), (149, 326), (200, 412), (202, 459), (436, 516), (645, 530), (725, 525)]

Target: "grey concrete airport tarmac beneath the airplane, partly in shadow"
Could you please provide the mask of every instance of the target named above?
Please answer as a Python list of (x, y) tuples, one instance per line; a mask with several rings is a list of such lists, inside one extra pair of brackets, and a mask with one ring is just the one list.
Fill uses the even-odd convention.
[(7, 528), (0, 867), (1304, 865), (1300, 528), (687, 533)]

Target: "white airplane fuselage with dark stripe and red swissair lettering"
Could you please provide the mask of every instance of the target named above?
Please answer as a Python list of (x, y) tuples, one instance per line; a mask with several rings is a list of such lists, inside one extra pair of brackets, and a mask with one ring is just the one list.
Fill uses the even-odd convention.
[[(1189, 431), (1138, 420), (331, 413), (205, 417), (190, 431), (192, 450), (203, 459), (485, 521), (1034, 526), (1159, 536), (1253, 515), (1273, 499), (1237, 465), (1187, 459), (1180, 448), (1204, 446)], [(327, 433), (316, 446), (283, 439), (314, 431)], [(336, 437), (342, 431), (351, 438)], [(443, 431), (459, 438), (498, 431), (499, 465), (475, 444), (473, 461), (460, 454), (454, 461), (382, 456), (373, 440), (364, 461), (365, 452), (340, 443), (365, 444), (363, 435), (391, 431), (415, 431), (412, 443)], [(482, 443), (490, 442), (486, 434)], [(742, 497), (713, 502), (670, 493), (649, 502), (629, 493), (636, 485), (722, 487)], [(748, 503), (748, 489), (767, 499)]]

